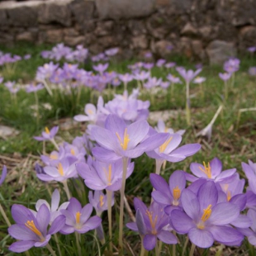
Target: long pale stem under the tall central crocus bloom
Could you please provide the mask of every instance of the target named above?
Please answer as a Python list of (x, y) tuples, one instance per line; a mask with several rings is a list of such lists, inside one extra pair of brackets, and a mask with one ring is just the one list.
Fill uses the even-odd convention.
[(124, 197), (125, 197), (125, 189), (126, 189), (126, 173), (127, 173), (127, 165), (128, 165), (128, 158), (123, 157), (123, 176), (122, 176), (122, 183), (120, 189), (120, 216), (119, 216), (119, 246), (123, 249), (123, 219), (124, 219)]

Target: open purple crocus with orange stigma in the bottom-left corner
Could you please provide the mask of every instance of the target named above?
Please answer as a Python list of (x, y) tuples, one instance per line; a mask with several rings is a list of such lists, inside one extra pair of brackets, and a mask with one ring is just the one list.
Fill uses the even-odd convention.
[(40, 206), (36, 216), (25, 206), (13, 205), (12, 217), (17, 224), (10, 226), (8, 233), (19, 241), (11, 244), (9, 250), (15, 253), (25, 252), (33, 246), (46, 246), (51, 235), (59, 232), (65, 224), (65, 217), (58, 216), (47, 230), (50, 224), (50, 211), (45, 204)]

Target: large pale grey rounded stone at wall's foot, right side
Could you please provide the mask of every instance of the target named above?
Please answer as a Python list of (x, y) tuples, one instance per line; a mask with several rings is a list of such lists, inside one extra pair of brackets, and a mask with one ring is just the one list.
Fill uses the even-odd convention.
[(235, 56), (236, 50), (232, 42), (214, 40), (206, 47), (206, 53), (210, 64), (223, 64), (226, 59)]

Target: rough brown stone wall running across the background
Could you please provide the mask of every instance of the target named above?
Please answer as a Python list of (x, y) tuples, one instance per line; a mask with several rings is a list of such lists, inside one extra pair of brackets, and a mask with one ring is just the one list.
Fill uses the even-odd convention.
[(97, 54), (165, 56), (221, 62), (256, 45), (256, 0), (49, 0), (0, 2), (0, 43), (83, 44)]

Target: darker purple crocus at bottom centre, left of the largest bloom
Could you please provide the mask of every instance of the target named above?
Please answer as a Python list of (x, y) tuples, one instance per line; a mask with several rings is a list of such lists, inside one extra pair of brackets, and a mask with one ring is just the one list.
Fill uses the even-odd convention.
[(157, 239), (165, 244), (177, 244), (177, 238), (168, 230), (168, 216), (164, 213), (163, 207), (153, 203), (147, 208), (139, 198), (134, 199), (136, 222), (127, 223), (130, 230), (139, 232), (143, 239), (143, 246), (146, 250), (154, 249)]

